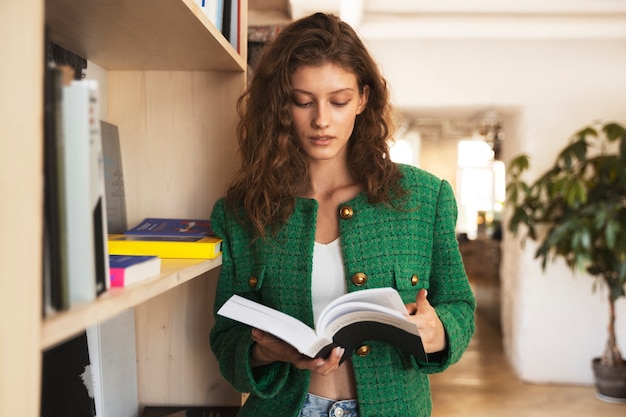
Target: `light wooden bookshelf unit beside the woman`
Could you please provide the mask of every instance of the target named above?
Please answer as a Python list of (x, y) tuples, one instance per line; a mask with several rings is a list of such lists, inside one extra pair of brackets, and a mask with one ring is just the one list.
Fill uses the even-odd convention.
[[(236, 405), (208, 345), (220, 259), (164, 261), (161, 276), (41, 318), (44, 26), (106, 72), (119, 127), (128, 223), (207, 217), (236, 169), (235, 103), (246, 82), (247, 0), (238, 53), (194, 0), (10, 0), (0, 24), (0, 415), (39, 415), (43, 350), (135, 310), (140, 405)], [(34, 109), (34, 110), (33, 110)], [(10, 143), (9, 143), (10, 142)], [(11, 152), (8, 152), (8, 150)]]

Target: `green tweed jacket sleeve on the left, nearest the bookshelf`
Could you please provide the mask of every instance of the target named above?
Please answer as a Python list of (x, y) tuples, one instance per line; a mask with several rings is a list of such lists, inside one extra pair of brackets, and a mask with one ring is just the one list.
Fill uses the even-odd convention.
[[(238, 391), (253, 393), (261, 398), (275, 396), (287, 381), (289, 364), (277, 362), (259, 368), (250, 366), (252, 348), (251, 328), (217, 314), (219, 308), (235, 294), (237, 276), (232, 258), (233, 245), (242, 241), (233, 216), (228, 216), (223, 200), (219, 200), (211, 214), (211, 227), (222, 239), (222, 267), (215, 294), (215, 325), (210, 343), (223, 377)], [(239, 236), (239, 237), (238, 237)]]

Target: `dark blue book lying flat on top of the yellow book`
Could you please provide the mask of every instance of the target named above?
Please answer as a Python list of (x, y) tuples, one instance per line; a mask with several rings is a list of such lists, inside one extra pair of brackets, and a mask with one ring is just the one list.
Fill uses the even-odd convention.
[(214, 236), (210, 220), (145, 218), (124, 232), (133, 236), (201, 237)]

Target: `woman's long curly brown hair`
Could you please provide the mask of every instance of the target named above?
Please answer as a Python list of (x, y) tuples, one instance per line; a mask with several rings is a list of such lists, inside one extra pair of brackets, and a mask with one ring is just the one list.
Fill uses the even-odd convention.
[(316, 13), (281, 31), (260, 57), (237, 108), (242, 166), (226, 202), (253, 233), (277, 231), (293, 213), (296, 197), (310, 186), (309, 165), (292, 135), (290, 76), (302, 66), (338, 65), (369, 88), (365, 110), (349, 140), (348, 166), (372, 203), (391, 203), (402, 194), (398, 167), (389, 157), (393, 134), (387, 82), (361, 39), (332, 14)]

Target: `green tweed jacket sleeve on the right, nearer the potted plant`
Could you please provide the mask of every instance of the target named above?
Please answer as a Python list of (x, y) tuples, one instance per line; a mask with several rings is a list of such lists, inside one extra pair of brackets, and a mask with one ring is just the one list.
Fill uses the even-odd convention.
[(418, 364), (426, 373), (442, 372), (458, 362), (475, 331), (476, 301), (456, 238), (457, 215), (452, 187), (447, 181), (441, 181), (435, 212), (428, 298), (443, 323), (447, 348), (429, 355), (427, 364)]

